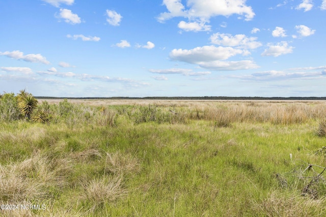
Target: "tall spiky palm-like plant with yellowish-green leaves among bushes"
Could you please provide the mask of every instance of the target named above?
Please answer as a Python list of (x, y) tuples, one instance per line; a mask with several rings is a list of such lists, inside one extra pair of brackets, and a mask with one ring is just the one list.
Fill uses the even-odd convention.
[(33, 97), (32, 94), (29, 94), (25, 90), (20, 90), (20, 93), (17, 94), (18, 108), (20, 113), (25, 117), (30, 119), (33, 110), (37, 106), (37, 99)]

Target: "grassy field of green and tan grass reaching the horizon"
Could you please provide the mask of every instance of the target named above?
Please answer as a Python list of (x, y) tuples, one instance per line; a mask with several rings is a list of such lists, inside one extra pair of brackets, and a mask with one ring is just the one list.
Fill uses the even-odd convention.
[(325, 101), (42, 101), (0, 118), (1, 204), (39, 205), (1, 216), (326, 216)]

